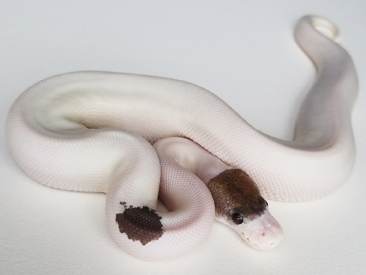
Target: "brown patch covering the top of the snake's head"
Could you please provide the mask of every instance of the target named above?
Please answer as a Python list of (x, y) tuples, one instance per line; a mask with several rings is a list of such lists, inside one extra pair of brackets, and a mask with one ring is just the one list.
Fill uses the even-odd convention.
[(239, 213), (251, 219), (264, 213), (267, 202), (257, 184), (240, 169), (228, 169), (209, 181), (208, 188), (215, 203), (216, 214), (231, 218)]

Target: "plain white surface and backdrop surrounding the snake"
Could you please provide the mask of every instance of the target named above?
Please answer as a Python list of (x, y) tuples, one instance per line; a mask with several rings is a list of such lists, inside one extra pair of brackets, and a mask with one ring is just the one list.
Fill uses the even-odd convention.
[[(293, 40), (304, 14), (331, 19), (353, 57), (354, 172), (318, 201), (270, 201), (283, 243), (247, 246), (225, 225), (193, 252), (150, 263), (109, 236), (104, 194), (36, 183), (12, 160), (5, 117), (46, 77), (105, 70), (185, 80), (231, 105), (255, 128), (291, 139), (315, 70)], [(365, 274), (365, 1), (0, 1), (0, 274)]]

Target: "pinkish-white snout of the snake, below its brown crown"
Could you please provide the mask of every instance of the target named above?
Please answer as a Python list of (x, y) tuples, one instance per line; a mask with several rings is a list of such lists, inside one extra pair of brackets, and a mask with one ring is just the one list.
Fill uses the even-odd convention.
[(268, 250), (278, 245), (283, 239), (283, 230), (278, 221), (269, 213), (268, 207), (264, 214), (247, 224), (240, 224), (236, 231), (244, 241), (258, 250)]

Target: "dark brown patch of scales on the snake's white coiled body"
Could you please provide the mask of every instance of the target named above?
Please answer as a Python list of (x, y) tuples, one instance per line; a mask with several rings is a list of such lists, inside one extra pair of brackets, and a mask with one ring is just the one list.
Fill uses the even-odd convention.
[(126, 233), (128, 239), (140, 241), (142, 245), (159, 239), (164, 230), (161, 217), (155, 210), (147, 206), (126, 208), (123, 213), (116, 214), (116, 222), (121, 233)]

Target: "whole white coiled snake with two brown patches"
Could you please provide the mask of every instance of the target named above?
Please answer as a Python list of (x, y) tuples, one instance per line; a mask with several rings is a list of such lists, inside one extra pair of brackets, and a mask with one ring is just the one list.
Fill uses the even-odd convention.
[[(251, 246), (273, 247), (283, 233), (261, 195), (323, 197), (347, 179), (355, 159), (354, 65), (314, 26), (337, 35), (321, 18), (303, 17), (296, 27), (317, 79), (293, 141), (254, 129), (215, 95), (184, 81), (75, 72), (40, 81), (19, 96), (7, 119), (10, 150), (46, 186), (106, 192), (111, 234), (136, 257), (167, 260), (186, 253), (208, 234), (215, 209), (216, 218)], [(261, 195), (233, 168), (249, 174)], [(156, 211), (158, 195), (169, 212)]]

